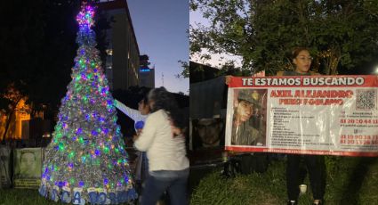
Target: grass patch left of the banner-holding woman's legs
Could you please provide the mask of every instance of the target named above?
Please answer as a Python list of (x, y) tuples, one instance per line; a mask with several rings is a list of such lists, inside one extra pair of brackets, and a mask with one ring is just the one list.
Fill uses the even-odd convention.
[(284, 204), (285, 171), (281, 170), (285, 164), (277, 162), (264, 174), (223, 178), (214, 172), (198, 184), (190, 204)]

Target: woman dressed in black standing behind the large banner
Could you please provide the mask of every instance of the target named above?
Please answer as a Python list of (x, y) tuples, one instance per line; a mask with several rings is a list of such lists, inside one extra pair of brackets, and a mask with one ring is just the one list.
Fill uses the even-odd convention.
[[(312, 57), (307, 48), (298, 47), (292, 52), (292, 60), (295, 65), (294, 71), (279, 71), (277, 76), (310, 76), (320, 75), (310, 71)], [(313, 204), (322, 204), (325, 193), (325, 172), (324, 156), (320, 155), (299, 155), (287, 154), (286, 165), (286, 186), (288, 195), (288, 205), (297, 204), (300, 193), (300, 162), (304, 160), (310, 176), (311, 190), (314, 197)]]

